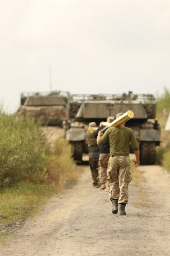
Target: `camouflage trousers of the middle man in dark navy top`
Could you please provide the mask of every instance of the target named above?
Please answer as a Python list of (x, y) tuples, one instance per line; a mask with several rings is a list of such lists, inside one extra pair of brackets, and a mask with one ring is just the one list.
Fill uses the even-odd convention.
[(110, 154), (99, 154), (99, 178), (101, 184), (107, 182), (107, 169), (109, 157)]

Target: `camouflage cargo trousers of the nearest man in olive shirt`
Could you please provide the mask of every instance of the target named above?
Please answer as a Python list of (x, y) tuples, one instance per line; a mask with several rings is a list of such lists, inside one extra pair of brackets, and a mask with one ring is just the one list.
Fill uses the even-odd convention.
[(108, 166), (109, 199), (119, 199), (119, 204), (127, 204), (128, 185), (131, 180), (130, 158), (110, 157)]

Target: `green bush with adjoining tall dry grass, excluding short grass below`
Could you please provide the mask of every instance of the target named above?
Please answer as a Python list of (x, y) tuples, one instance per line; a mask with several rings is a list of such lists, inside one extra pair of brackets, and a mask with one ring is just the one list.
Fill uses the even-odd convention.
[(30, 116), (17, 119), (0, 111), (0, 187), (20, 180), (50, 183), (61, 187), (77, 178), (73, 149), (64, 138), (54, 150), (46, 130)]

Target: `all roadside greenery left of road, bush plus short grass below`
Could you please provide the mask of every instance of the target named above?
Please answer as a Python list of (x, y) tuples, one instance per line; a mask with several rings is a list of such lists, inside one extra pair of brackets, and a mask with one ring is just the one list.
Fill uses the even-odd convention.
[[(0, 111), (0, 224), (37, 213), (50, 195), (78, 177), (71, 145), (59, 138), (53, 150), (40, 122)], [(0, 231), (0, 237), (5, 235)]]

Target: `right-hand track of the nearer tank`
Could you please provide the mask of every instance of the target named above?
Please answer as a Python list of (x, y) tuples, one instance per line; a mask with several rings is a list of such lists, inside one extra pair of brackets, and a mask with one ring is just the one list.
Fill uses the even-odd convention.
[(140, 164), (153, 165), (156, 163), (156, 143), (141, 142)]

